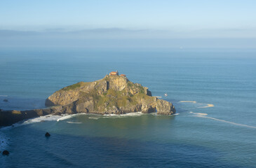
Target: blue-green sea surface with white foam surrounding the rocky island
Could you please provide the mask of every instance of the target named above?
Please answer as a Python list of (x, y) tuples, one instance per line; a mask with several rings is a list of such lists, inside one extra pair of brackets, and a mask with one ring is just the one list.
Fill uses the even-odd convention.
[(0, 49), (0, 109), (44, 108), (56, 90), (116, 70), (177, 113), (2, 127), (0, 167), (256, 167), (256, 50)]

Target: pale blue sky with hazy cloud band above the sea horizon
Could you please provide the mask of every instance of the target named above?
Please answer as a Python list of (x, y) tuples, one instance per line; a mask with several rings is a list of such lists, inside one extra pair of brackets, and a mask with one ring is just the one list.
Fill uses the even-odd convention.
[(255, 8), (255, 0), (1, 0), (0, 48), (256, 48)]

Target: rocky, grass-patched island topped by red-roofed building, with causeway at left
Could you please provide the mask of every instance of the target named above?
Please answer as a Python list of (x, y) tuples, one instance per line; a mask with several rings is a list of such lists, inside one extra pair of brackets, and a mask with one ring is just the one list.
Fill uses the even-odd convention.
[(118, 71), (94, 82), (79, 82), (54, 92), (46, 99), (46, 109), (0, 111), (0, 126), (21, 120), (64, 113), (123, 114), (141, 111), (171, 115), (175, 107), (170, 102), (152, 97), (147, 87), (132, 83)]

